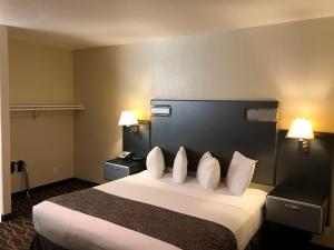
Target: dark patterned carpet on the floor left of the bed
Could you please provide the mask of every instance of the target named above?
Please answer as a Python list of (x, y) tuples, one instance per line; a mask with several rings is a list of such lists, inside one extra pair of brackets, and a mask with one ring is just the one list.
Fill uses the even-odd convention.
[(31, 220), (32, 206), (55, 196), (92, 187), (90, 182), (70, 179), (32, 190), (30, 200), (26, 193), (12, 196), (12, 214), (0, 223), (0, 250), (27, 250), (35, 234)]

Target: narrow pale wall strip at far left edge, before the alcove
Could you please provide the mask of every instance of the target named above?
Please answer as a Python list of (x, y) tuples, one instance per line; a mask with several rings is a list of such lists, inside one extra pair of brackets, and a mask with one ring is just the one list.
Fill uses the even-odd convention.
[(8, 74), (8, 31), (0, 26), (0, 214), (11, 212)]

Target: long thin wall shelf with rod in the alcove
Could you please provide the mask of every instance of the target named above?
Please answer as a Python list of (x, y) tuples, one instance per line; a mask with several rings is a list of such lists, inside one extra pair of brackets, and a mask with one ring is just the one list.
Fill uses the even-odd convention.
[(84, 110), (84, 106), (50, 106), (50, 104), (11, 104), (9, 110), (11, 112), (32, 111), (33, 119), (37, 118), (41, 111), (66, 111), (66, 110)]

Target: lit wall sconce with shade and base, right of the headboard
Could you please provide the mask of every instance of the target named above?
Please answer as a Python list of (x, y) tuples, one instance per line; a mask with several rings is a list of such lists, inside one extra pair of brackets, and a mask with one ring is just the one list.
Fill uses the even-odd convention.
[(298, 141), (298, 153), (310, 153), (310, 140), (314, 139), (312, 123), (307, 119), (296, 118), (288, 129), (286, 138), (297, 138)]

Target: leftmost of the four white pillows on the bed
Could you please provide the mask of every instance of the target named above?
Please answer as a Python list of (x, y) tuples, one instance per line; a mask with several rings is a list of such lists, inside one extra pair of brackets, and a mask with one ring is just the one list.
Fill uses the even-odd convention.
[(148, 173), (153, 178), (159, 179), (163, 177), (165, 171), (165, 159), (164, 159), (163, 151), (159, 147), (155, 147), (147, 154), (146, 168), (148, 170)]

